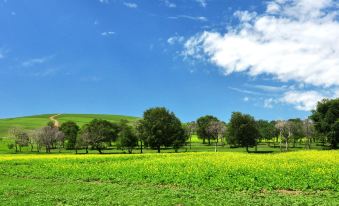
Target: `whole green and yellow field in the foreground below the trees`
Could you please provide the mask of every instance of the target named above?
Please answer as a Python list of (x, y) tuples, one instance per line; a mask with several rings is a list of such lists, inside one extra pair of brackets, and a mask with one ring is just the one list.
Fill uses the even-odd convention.
[(1, 155), (4, 205), (338, 205), (339, 152)]

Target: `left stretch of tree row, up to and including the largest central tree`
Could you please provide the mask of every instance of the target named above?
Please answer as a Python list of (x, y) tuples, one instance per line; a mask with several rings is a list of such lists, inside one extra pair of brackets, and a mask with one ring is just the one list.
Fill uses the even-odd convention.
[(52, 148), (66, 148), (76, 150), (104, 149), (115, 143), (119, 149), (132, 153), (133, 149), (143, 146), (156, 149), (159, 153), (161, 147), (172, 147), (176, 151), (186, 143), (188, 133), (180, 120), (165, 108), (151, 108), (144, 112), (143, 118), (137, 123), (129, 123), (122, 120), (120, 123), (112, 123), (107, 120), (94, 119), (85, 124), (81, 129), (72, 121), (65, 122), (60, 128), (48, 123), (48, 126), (25, 131), (13, 128), (9, 131), (14, 140), (10, 148), (21, 151), (22, 147), (34, 145), (39, 152), (43, 146), (49, 153)]

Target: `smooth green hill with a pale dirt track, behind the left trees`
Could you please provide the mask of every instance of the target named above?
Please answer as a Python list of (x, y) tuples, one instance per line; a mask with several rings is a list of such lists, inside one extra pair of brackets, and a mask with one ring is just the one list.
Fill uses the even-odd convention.
[[(27, 117), (16, 117), (16, 118), (7, 118), (0, 119), (0, 137), (7, 136), (8, 129), (12, 127), (21, 127), (24, 129), (36, 129), (47, 125), (50, 121), (50, 117), (57, 114), (42, 114), (35, 116)], [(128, 120), (130, 122), (136, 121), (139, 118), (123, 115), (110, 115), (110, 114), (61, 114), (56, 116), (60, 124), (66, 121), (74, 121), (79, 126), (82, 126), (93, 119), (105, 119), (111, 122), (119, 122), (122, 119)]]

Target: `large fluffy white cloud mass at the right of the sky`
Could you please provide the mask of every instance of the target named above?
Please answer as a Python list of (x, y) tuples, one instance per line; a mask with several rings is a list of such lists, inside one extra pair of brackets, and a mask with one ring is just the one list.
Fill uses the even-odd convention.
[[(184, 55), (207, 57), (226, 75), (270, 75), (281, 82), (337, 88), (338, 8), (335, 0), (273, 0), (263, 14), (235, 12), (240, 23), (226, 33), (205, 31), (191, 37)], [(290, 91), (281, 101), (310, 110), (325, 96), (317, 91)]]

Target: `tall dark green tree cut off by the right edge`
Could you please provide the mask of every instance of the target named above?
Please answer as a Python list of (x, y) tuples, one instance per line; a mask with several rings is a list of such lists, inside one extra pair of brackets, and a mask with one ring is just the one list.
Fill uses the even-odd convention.
[(338, 148), (339, 135), (337, 122), (339, 121), (339, 99), (324, 99), (318, 102), (317, 108), (312, 111), (310, 119), (314, 121), (315, 129), (327, 137), (332, 149)]

